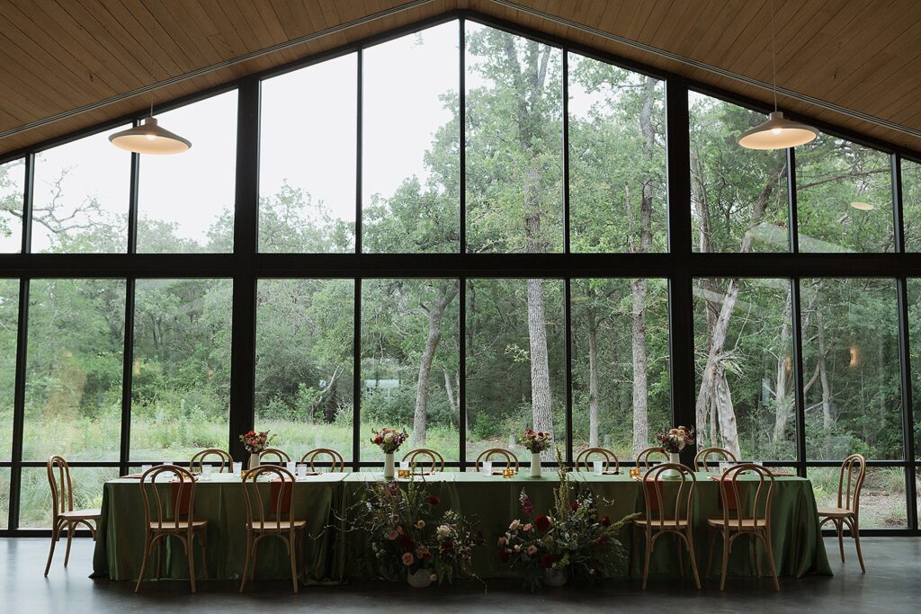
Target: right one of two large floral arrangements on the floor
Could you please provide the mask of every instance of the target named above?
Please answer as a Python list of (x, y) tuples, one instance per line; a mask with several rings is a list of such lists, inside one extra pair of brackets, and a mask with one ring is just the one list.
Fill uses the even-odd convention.
[(560, 485), (554, 489), (554, 508), (548, 514), (535, 515), (528, 493), (522, 490), (519, 504), (524, 518), (513, 520), (498, 540), (502, 561), (524, 568), (525, 585), (531, 590), (542, 584), (543, 570), (569, 570), (589, 580), (618, 573), (626, 561), (618, 536), (639, 516), (624, 516), (616, 522), (599, 516), (594, 495), (574, 491), (559, 450), (556, 459)]

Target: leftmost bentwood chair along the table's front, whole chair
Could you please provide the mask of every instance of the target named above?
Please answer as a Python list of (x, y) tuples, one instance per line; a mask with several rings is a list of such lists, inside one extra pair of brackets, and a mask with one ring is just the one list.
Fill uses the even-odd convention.
[[(162, 477), (161, 477), (162, 476)], [(189, 583), (195, 592), (194, 542), (202, 550), (204, 579), (208, 579), (208, 521), (195, 519), (195, 478), (187, 469), (176, 465), (159, 465), (141, 476), (141, 499), (144, 501), (144, 559), (134, 592), (141, 590), (147, 571), (147, 559), (157, 546), (157, 577), (163, 562), (162, 543), (169, 538), (181, 541), (189, 560)]]

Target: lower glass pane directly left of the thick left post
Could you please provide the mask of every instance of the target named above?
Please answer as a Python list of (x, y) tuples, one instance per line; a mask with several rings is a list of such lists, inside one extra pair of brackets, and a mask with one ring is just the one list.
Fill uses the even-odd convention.
[(227, 449), (232, 315), (229, 279), (137, 281), (130, 458)]

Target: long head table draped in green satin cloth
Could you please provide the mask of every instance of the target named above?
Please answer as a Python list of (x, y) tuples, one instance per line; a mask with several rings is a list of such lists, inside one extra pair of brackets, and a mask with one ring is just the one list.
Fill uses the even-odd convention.
[[(627, 475), (573, 472), (570, 476), (574, 488), (590, 489), (596, 498), (603, 497), (605, 501), (599, 502), (600, 515), (616, 520), (644, 509), (642, 484)], [(705, 473), (697, 473), (696, 477), (694, 548), (703, 574), (709, 547), (706, 518), (721, 516), (722, 512), (717, 481), (709, 479)], [(321, 473), (297, 479), (292, 503), (297, 518), (307, 520), (309, 532), (306, 548), (300, 554), (299, 570), (304, 584), (338, 584), (374, 575), (373, 559), (364, 536), (358, 531), (343, 529), (348, 527), (344, 517), (350, 511), (355, 512), (354, 506), (361, 501), (367, 481), (380, 480), (382, 476), (379, 472), (364, 471)], [(478, 549), (480, 551), (473, 562), (483, 578), (516, 576), (507, 563), (499, 559), (495, 543), (508, 524), (522, 516), (519, 509), (521, 489), (528, 492), (535, 513), (540, 514), (549, 511), (553, 505), (554, 488), (559, 483), (553, 472), (545, 473), (541, 478), (531, 478), (526, 471), (514, 478), (473, 472), (444, 472), (415, 477), (414, 480), (425, 481), (428, 492), (441, 499), (439, 505), (443, 509), (454, 509), (477, 518), (486, 546)], [(208, 521), (206, 556), (212, 577), (236, 579), (243, 570), (246, 511), (239, 482), (239, 476), (233, 474), (211, 474), (200, 479), (196, 487), (194, 516)], [(742, 480), (740, 487), (742, 497), (745, 489), (752, 487), (751, 481), (745, 482)], [(259, 486), (267, 497), (270, 484)], [(101, 514), (101, 530), (93, 556), (93, 577), (136, 580), (144, 551), (145, 522), (138, 481), (122, 478), (106, 482)], [(779, 575), (832, 574), (822, 544), (810, 481), (798, 477), (776, 478), (772, 533)], [(634, 552), (635, 539), (633, 528), (624, 527), (621, 540), (628, 553)], [(721, 540), (717, 539), (714, 573), (719, 571), (721, 547)], [(197, 542), (195, 548), (198, 556)], [(764, 556), (761, 549), (758, 551)], [(632, 558), (640, 557), (634, 553)], [(163, 561), (163, 577), (188, 578), (188, 564), (178, 540), (168, 541)], [(201, 570), (200, 565), (195, 566)], [(767, 569), (766, 563), (764, 569)], [(729, 572), (737, 575), (754, 573), (748, 539), (733, 544)], [(642, 575), (636, 561), (624, 573)], [(677, 542), (659, 539), (650, 574), (677, 576), (679, 573)], [(201, 572), (197, 575), (201, 576)], [(256, 579), (284, 580), (290, 577), (285, 546), (278, 539), (264, 540), (260, 545)]]

